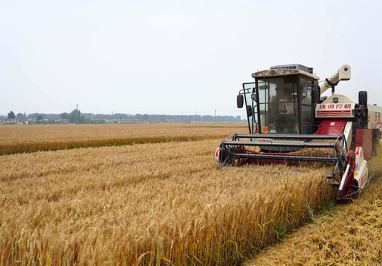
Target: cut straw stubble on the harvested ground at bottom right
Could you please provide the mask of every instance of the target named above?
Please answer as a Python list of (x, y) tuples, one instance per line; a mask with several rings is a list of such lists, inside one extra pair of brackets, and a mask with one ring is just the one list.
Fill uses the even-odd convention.
[(370, 161), (374, 181), (358, 199), (324, 212), (246, 265), (381, 265), (382, 142), (378, 149)]

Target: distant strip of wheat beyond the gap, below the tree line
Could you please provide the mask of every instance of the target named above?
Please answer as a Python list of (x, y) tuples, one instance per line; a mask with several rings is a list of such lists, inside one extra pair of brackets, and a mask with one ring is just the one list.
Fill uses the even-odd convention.
[(245, 124), (2, 125), (0, 155), (84, 147), (222, 139)]

